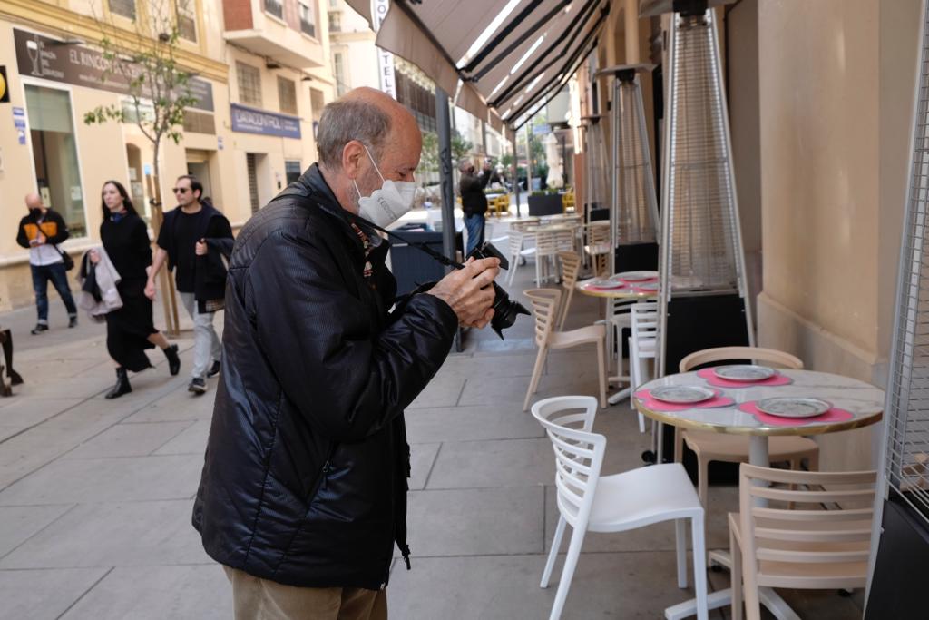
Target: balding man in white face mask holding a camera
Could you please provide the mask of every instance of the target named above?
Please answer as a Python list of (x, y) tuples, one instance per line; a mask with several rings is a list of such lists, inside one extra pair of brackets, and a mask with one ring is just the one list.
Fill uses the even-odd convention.
[(412, 205), (422, 138), (410, 112), (350, 91), (324, 108), (317, 144), (320, 163), (248, 221), (229, 262), (225, 370), (192, 521), (226, 568), (237, 620), (386, 618), (394, 544), (410, 556), (403, 409), (457, 326), (493, 314), (496, 258), (390, 311), (389, 244), (368, 222)]

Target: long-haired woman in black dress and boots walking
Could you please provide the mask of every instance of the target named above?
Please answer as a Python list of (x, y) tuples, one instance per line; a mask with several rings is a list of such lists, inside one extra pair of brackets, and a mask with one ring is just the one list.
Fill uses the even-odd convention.
[[(100, 224), (100, 241), (121, 280), (116, 285), (123, 307), (106, 314), (107, 350), (116, 363), (116, 385), (107, 398), (117, 398), (132, 391), (128, 371), (141, 372), (151, 367), (146, 349), (155, 346), (164, 351), (172, 375), (180, 371), (177, 345), (155, 329), (151, 318), (151, 300), (145, 297), (145, 284), (151, 265), (151, 242), (145, 221), (138, 217), (136, 207), (119, 181), (107, 181), (100, 192), (103, 223)], [(90, 262), (95, 265), (100, 257), (90, 251)]]

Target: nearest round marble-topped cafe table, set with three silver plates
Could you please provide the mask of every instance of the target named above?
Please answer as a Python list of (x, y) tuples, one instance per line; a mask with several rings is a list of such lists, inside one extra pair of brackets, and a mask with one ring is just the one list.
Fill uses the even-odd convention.
[[(883, 390), (869, 383), (847, 376), (819, 373), (810, 370), (779, 369), (779, 374), (791, 380), (786, 385), (747, 384), (746, 387), (719, 387), (711, 383), (708, 373), (703, 371), (663, 376), (649, 381), (636, 390), (633, 397), (635, 408), (653, 420), (671, 424), (681, 429), (711, 430), (713, 432), (745, 435), (749, 438), (749, 462), (760, 467), (770, 467), (768, 461), (768, 437), (776, 435), (819, 435), (858, 429), (875, 424), (883, 416)], [(731, 404), (718, 407), (693, 406), (668, 411), (675, 407), (656, 402), (644, 392), (663, 386), (701, 386), (718, 390), (717, 398), (729, 399)], [(643, 397), (643, 398), (640, 398)], [(786, 418), (776, 416), (756, 416), (742, 411), (739, 406), (748, 408), (747, 403), (765, 398), (793, 396), (816, 398), (830, 402), (833, 411), (842, 410), (842, 416), (831, 416), (831, 412), (811, 418)], [(699, 404), (699, 403), (697, 403)], [(728, 566), (727, 553), (713, 552), (711, 559)], [(782, 620), (793, 620), (798, 616), (792, 611), (777, 592), (770, 587), (759, 588), (762, 604)], [(729, 588), (713, 592), (708, 597), (710, 609), (729, 605), (732, 591)], [(677, 620), (696, 613), (696, 601), (685, 602), (665, 610), (665, 618)]]

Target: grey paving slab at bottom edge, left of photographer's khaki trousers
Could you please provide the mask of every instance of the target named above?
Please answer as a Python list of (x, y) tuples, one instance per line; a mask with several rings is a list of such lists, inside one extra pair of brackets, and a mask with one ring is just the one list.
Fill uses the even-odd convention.
[(218, 564), (117, 567), (62, 620), (228, 620), (232, 587)]

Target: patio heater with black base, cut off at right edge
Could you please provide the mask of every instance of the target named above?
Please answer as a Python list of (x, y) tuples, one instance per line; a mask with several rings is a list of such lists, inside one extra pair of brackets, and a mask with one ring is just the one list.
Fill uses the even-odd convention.
[(924, 617), (929, 558), (929, 2), (922, 5), (909, 185), (865, 618)]

